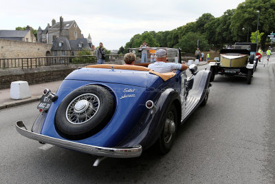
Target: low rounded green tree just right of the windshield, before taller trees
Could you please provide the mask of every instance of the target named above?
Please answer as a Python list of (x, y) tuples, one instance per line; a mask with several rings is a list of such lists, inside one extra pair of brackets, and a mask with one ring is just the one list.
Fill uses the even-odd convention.
[(188, 32), (179, 40), (177, 46), (181, 48), (182, 52), (195, 53), (195, 50), (197, 49), (197, 40), (199, 40), (200, 50), (207, 51), (209, 48), (208, 42), (203, 34), (199, 34), (198, 32)]

